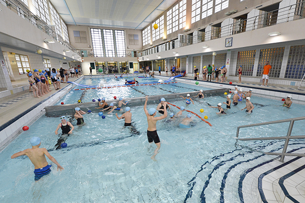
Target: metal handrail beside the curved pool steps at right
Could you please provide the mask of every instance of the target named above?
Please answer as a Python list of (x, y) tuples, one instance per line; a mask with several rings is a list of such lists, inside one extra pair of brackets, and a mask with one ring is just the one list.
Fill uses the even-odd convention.
[[(241, 125), (241, 126), (237, 127), (237, 130), (236, 130), (236, 139), (237, 140), (241, 140), (241, 141), (250, 141), (250, 140), (251, 141), (255, 141), (255, 140), (284, 140), (285, 139), (286, 141), (285, 141), (282, 153), (265, 152), (265, 154), (268, 154), (268, 155), (280, 155), (281, 156), (281, 159), (280, 159), (281, 162), (284, 162), (285, 156), (305, 156), (305, 154), (286, 153), (287, 147), (288, 147), (288, 143), (289, 143), (290, 139), (304, 139), (305, 138), (305, 136), (290, 136), (292, 128), (293, 128), (294, 121), (298, 121), (298, 120), (305, 120), (305, 116), (297, 117), (297, 118), (289, 118), (289, 119), (284, 119), (284, 120), (277, 120), (277, 121), (269, 121), (269, 122), (264, 122), (264, 123), (255, 123), (255, 124), (250, 124), (250, 125)], [(239, 136), (239, 129), (240, 128), (260, 126), (260, 125), (268, 125), (268, 124), (275, 124), (275, 123), (285, 123), (285, 122), (290, 122), (286, 137), (238, 138), (238, 136)]]

